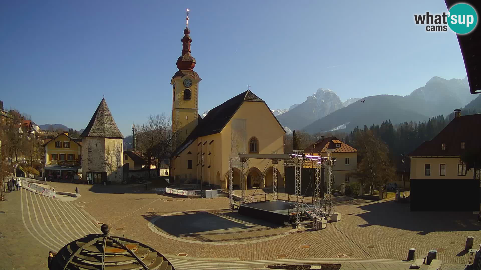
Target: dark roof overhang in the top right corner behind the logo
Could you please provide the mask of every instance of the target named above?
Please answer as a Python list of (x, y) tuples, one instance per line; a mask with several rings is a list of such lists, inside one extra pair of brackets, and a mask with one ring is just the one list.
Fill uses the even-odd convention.
[[(445, 0), (447, 8), (451, 8), (459, 0)], [(480, 0), (464, 0), (478, 12), (481, 10)], [(479, 23), (478, 23), (479, 24)], [(471, 94), (481, 93), (481, 28), (475, 27), (474, 30), (466, 35), (457, 35), (459, 48), (463, 54), (464, 66), (468, 74), (468, 83)]]

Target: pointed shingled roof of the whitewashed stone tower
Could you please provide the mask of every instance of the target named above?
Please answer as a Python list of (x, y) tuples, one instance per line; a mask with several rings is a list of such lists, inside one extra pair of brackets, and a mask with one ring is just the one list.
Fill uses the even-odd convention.
[(105, 98), (102, 98), (99, 107), (95, 110), (92, 119), (90, 119), (89, 124), (80, 137), (124, 138), (114, 121), (114, 117), (112, 117)]

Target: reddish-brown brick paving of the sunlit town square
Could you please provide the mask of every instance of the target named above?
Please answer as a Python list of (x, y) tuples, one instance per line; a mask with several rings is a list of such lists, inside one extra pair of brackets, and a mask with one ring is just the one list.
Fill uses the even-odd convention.
[[(114, 228), (113, 234), (131, 236), (152, 245), (167, 256), (187, 253), (190, 260), (196, 258), (230, 258), (240, 261), (275, 260), (278, 259), (278, 254), (286, 254), (289, 259), (339, 258), (339, 254), (349, 254), (350, 256), (343, 258), (400, 261), (407, 256), (408, 248), (415, 247), (417, 257), (427, 254), (430, 249), (443, 248), (444, 250), (440, 249), (438, 252), (438, 259), (443, 260), (443, 269), (463, 269), (469, 259), (467, 254), (460, 253), (464, 249), (466, 237), (468, 235), (475, 237), (475, 247), (479, 246), (481, 240), (481, 223), (476, 221), (476, 215), (472, 213), (410, 212), (408, 205), (394, 201), (370, 202), (349, 197), (336, 197), (334, 207), (336, 211), (342, 212), (342, 220), (329, 222), (327, 228), (322, 231), (300, 230), (278, 239), (241, 245), (205, 245), (202, 241), (186, 243), (153, 233), (149, 229), (149, 221), (159, 215), (173, 212), (193, 209), (226, 209), (228, 207), (227, 198), (177, 200), (170, 196), (157, 195), (154, 190), (146, 193), (141, 185), (52, 184), (57, 191), (71, 191), (78, 186), (82, 196), (77, 201), (85, 201), (82, 205), (85, 205), (86, 214), (91, 215), (95, 220), (111, 225)], [(38, 241), (29, 237), (25, 228), (21, 226), (22, 221), (18, 212), (20, 199), (16, 196), (18, 194), (13, 193), (7, 196), (7, 198), (11, 197), (11, 200), (0, 202), (0, 210), (9, 209), (7, 214), (0, 214), (4, 215), (0, 218), (0, 226), (3, 230), (0, 232), (2, 232), (1, 235), (6, 236), (0, 238), (0, 244), (3, 242), (6, 245), (15, 245), (16, 238), (25, 239), (25, 242), (20, 243), (25, 245), (33, 243), (32, 245), (28, 244), (29, 254), (35, 258), (42, 258), (38, 261), (43, 262), (48, 250), (45, 246), (38, 244)], [(79, 205), (76, 204), (76, 201), (73, 201), (72, 204)], [(172, 224), (168, 225), (172, 226)], [(179, 226), (181, 225), (179, 224)], [(248, 236), (241, 235), (241, 237), (235, 237), (236, 233), (234, 232), (232, 238), (257, 237), (262, 239), (269, 235), (265, 231), (262, 235), (253, 231)], [(299, 248), (299, 245), (312, 246)], [(374, 245), (374, 247), (367, 248), (367, 245)], [(2, 245), (0, 248), (4, 249), (4, 246)], [(8, 258), (14, 261), (14, 254), (19, 251), (20, 249), (17, 249), (16, 252), (9, 253)], [(5, 252), (8, 253), (8, 251), (1, 253), (5, 254)], [(2, 260), (1, 257), (0, 260)], [(345, 267), (343, 266), (342, 269), (368, 269), (370, 267), (363, 262), (349, 264), (348, 266), (347, 262), (344, 262)], [(372, 269), (405, 269), (405, 264), (395, 266), (392, 261), (387, 262), (389, 267), (386, 266), (386, 268), (383, 268), (380, 263), (372, 264), (374, 266), (374, 268), (371, 267)], [(10, 267), (8, 269), (22, 268)]]

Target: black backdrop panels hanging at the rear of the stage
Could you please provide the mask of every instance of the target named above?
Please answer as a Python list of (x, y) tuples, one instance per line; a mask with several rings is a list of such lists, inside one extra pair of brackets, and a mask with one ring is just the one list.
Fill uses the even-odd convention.
[[(286, 167), (285, 193), (294, 194), (295, 190), (295, 171), (294, 167)], [(301, 168), (301, 196), (314, 196), (314, 168)], [(321, 173), (321, 189), (324, 190), (324, 169), (320, 169)], [(321, 192), (321, 198), (324, 192)]]

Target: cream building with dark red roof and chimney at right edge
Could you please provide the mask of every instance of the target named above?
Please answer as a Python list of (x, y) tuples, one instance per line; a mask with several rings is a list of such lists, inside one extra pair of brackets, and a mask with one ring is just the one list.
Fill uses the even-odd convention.
[(480, 149), (480, 123), (481, 114), (461, 116), (457, 109), (438, 135), (409, 154), (411, 210), (470, 210), (469, 199), (479, 201), (480, 182), (460, 157), (469, 149)]

